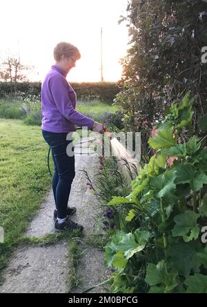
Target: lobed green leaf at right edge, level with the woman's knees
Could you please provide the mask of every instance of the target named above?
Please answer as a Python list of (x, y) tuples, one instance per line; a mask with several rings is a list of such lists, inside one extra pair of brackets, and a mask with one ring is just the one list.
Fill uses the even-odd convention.
[(176, 174), (175, 183), (189, 183), (193, 191), (198, 191), (207, 183), (207, 176), (196, 171), (190, 163), (175, 165), (173, 168)]

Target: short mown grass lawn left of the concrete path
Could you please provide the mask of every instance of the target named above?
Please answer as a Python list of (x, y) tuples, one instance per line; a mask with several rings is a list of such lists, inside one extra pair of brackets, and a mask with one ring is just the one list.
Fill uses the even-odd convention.
[(47, 153), (40, 127), (0, 119), (0, 269), (50, 189)]

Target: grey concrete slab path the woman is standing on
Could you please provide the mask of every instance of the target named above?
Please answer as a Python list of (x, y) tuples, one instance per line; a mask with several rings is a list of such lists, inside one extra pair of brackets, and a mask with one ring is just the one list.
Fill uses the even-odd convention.
[[(87, 143), (84, 146), (87, 147)], [(93, 226), (99, 203), (86, 186), (86, 178), (81, 169), (86, 169), (90, 176), (95, 176), (99, 171), (99, 158), (96, 154), (79, 155), (79, 150), (78, 146), (75, 147), (76, 176), (72, 183), (68, 205), (77, 207), (77, 214), (72, 216), (72, 220), (84, 227), (81, 240), (83, 241), (82, 248), (85, 248), (84, 238), (90, 236), (95, 230)], [(54, 208), (55, 202), (51, 189), (26, 235), (39, 237), (54, 233), (54, 222), (52, 221)], [(5, 282), (0, 286), (0, 292), (68, 292), (71, 263), (67, 257), (67, 248), (66, 242), (43, 247), (19, 246), (4, 271)], [(74, 289), (74, 292), (82, 292), (107, 279), (108, 276), (108, 271), (103, 266), (103, 252), (97, 248), (89, 248), (84, 252), (77, 268), (77, 277), (82, 280), (81, 287)], [(106, 288), (101, 287), (91, 292), (105, 291)]]

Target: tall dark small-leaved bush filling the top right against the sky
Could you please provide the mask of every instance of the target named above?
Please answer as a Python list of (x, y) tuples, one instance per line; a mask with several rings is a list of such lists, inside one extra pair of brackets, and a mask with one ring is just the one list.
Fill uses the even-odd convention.
[(120, 22), (128, 21), (130, 48), (122, 59), (122, 91), (115, 99), (125, 110), (128, 129), (163, 120), (165, 109), (190, 90), (195, 95), (193, 131), (199, 131), (197, 120), (207, 111), (205, 2), (128, 1)]

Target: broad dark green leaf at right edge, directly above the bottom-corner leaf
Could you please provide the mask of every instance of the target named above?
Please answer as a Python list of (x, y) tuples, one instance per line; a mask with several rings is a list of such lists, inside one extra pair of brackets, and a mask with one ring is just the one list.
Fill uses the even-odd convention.
[(172, 261), (171, 266), (184, 277), (187, 277), (191, 270), (199, 272), (201, 264), (205, 265), (207, 261), (206, 250), (197, 241), (171, 244), (169, 255)]

